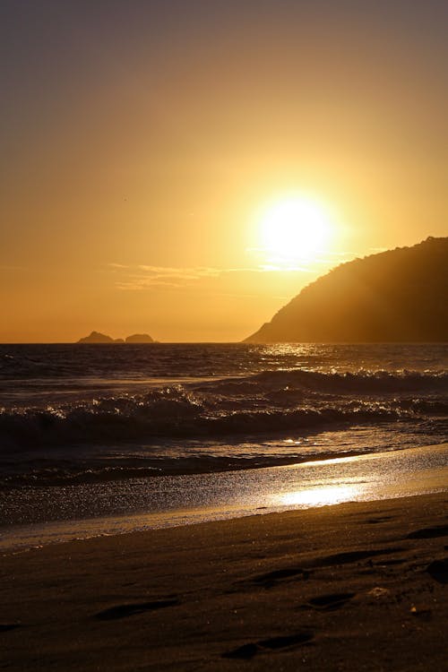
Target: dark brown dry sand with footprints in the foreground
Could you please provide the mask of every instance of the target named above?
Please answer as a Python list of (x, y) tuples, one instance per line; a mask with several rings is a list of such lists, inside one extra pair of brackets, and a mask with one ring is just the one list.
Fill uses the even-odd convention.
[(0, 558), (7, 670), (448, 669), (448, 494)]

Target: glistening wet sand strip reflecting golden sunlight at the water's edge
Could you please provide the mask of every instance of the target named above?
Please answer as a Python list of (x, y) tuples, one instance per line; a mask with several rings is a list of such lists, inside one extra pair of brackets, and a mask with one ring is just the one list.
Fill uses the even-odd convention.
[[(118, 483), (113, 490), (103, 491), (99, 487), (83, 490), (77, 504), (70, 502), (73, 512), (85, 510), (82, 507), (87, 498), (95, 502), (96, 517), (72, 515), (59, 520), (4, 525), (0, 528), (0, 553), (67, 543), (75, 538), (178, 528), (349, 501), (381, 501), (444, 492), (448, 488), (448, 444), (258, 470), (194, 474), (180, 479), (165, 478), (159, 483), (159, 493), (144, 479), (126, 482), (121, 495)], [(170, 487), (176, 492), (167, 499)], [(25, 506), (36, 506), (44, 511), (48, 496), (55, 492), (59, 494), (59, 490), (53, 493), (43, 490), (42, 500), (30, 503), (28, 491), (24, 495), (23, 511), (26, 512)], [(79, 495), (77, 489), (61, 489), (65, 507), (74, 495)], [(119, 495), (126, 500), (127, 509), (121, 513), (116, 508), (108, 510), (111, 504), (117, 507)], [(134, 504), (130, 502), (131, 496)], [(105, 500), (103, 509), (101, 497)]]

